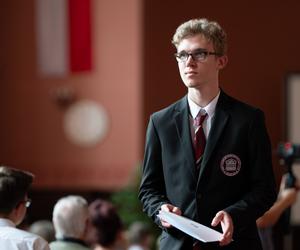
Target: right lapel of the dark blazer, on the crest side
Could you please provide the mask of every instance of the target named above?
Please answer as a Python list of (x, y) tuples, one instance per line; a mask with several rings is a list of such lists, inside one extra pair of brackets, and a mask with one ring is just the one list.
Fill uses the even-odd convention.
[(207, 163), (217, 146), (217, 142), (222, 135), (222, 132), (225, 128), (225, 125), (229, 119), (229, 114), (226, 112), (227, 107), (229, 106), (229, 101), (227, 98), (227, 95), (221, 91), (216, 111), (215, 111), (215, 117), (212, 123), (212, 127), (209, 132), (209, 137), (207, 140), (207, 144), (205, 147), (205, 152), (203, 155), (203, 161), (201, 163), (200, 167), (200, 173), (199, 173), (199, 179), (202, 176), (205, 168), (207, 167)]

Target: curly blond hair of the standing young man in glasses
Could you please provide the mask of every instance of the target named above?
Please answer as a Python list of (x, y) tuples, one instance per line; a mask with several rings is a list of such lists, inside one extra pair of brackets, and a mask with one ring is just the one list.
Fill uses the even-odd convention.
[(205, 18), (192, 19), (181, 24), (173, 36), (172, 43), (178, 45), (185, 38), (195, 35), (203, 35), (205, 39), (213, 44), (214, 51), (220, 55), (227, 52), (227, 35), (222, 27), (215, 21)]

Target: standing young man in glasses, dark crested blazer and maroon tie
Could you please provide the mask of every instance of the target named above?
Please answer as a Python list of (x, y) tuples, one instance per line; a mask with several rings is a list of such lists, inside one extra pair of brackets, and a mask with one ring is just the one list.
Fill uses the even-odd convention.
[[(161, 249), (260, 250), (256, 219), (276, 200), (264, 113), (220, 88), (227, 35), (217, 22), (184, 22), (172, 42), (187, 95), (150, 117), (139, 192), (144, 211), (162, 228)], [(222, 236), (197, 241), (160, 220), (160, 210)]]

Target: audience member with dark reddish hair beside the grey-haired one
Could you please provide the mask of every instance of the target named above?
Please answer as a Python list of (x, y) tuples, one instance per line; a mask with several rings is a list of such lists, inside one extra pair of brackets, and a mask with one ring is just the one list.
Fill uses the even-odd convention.
[(89, 206), (90, 227), (87, 241), (94, 250), (126, 249), (123, 224), (115, 207), (97, 199)]

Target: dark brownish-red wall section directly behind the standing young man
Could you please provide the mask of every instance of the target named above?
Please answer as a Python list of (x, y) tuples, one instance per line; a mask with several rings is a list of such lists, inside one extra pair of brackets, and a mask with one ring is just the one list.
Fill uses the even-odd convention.
[[(299, 9), (297, 1), (145, 1), (145, 126), (150, 113), (186, 93), (173, 57), (175, 29), (188, 19), (206, 17), (218, 21), (228, 34), (229, 63), (221, 73), (221, 87), (265, 112), (276, 148), (284, 139), (284, 77), (300, 68)], [(279, 175), (277, 162), (274, 157)]]

